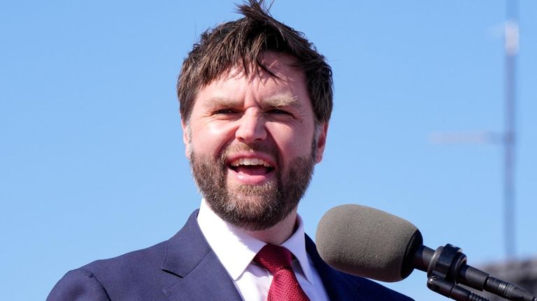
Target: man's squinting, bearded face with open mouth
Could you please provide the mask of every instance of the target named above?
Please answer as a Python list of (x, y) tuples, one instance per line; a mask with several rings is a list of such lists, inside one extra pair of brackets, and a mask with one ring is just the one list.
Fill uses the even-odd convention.
[(208, 205), (245, 230), (274, 226), (296, 210), (322, 159), (327, 124), (315, 117), (294, 58), (264, 52), (276, 77), (233, 69), (197, 94), (183, 138)]

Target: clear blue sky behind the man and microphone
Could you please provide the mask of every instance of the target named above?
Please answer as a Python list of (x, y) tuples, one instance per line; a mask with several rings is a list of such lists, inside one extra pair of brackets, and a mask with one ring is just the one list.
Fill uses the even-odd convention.
[[(171, 237), (198, 207), (175, 96), (199, 34), (234, 1), (2, 1), (0, 300), (44, 300), (73, 268)], [(505, 1), (289, 1), (272, 14), (334, 71), (324, 160), (299, 212), (376, 207), (424, 243), (502, 260)], [(520, 1), (516, 250), (537, 256), (537, 1)], [(414, 272), (396, 290), (445, 300)]]

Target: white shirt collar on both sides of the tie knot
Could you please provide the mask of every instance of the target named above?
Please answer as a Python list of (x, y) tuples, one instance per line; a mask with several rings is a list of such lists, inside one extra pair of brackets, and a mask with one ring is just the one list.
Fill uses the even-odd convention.
[[(198, 223), (211, 249), (234, 281), (241, 277), (257, 252), (266, 244), (221, 219), (213, 210), (210, 210), (204, 199), (201, 200), (199, 207)], [(291, 251), (299, 261), (304, 276), (313, 284), (312, 271), (306, 253), (303, 221), (298, 215), (296, 223), (297, 227), (293, 235), (281, 246)]]

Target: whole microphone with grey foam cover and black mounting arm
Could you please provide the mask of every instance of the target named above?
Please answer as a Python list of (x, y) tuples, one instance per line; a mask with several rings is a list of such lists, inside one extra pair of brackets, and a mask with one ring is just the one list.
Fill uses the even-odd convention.
[(322, 216), (315, 241), (321, 258), (348, 274), (394, 282), (417, 269), (427, 272), (431, 290), (454, 300), (487, 300), (457, 285), (463, 284), (508, 300), (537, 301), (522, 288), (467, 265), (458, 247), (426, 247), (412, 223), (371, 207), (332, 208)]

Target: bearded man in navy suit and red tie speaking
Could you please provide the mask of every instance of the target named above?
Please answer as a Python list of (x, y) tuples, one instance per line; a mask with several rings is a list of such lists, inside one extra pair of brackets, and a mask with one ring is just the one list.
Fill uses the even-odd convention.
[(331, 69), (255, 0), (202, 34), (178, 97), (203, 200), (170, 240), (73, 270), (48, 300), (410, 300), (331, 269), (296, 213), (322, 159)]

